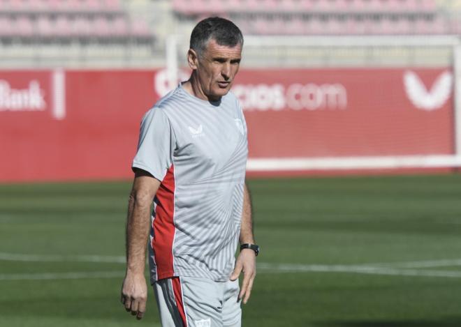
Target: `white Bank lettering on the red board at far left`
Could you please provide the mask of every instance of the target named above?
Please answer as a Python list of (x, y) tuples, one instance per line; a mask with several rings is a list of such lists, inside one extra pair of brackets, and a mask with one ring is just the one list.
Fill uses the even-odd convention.
[(6, 80), (0, 79), (0, 111), (43, 111), (46, 107), (44, 94), (36, 79), (31, 80), (25, 89), (13, 89)]

